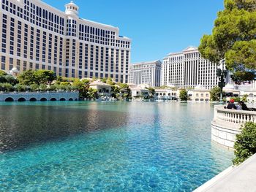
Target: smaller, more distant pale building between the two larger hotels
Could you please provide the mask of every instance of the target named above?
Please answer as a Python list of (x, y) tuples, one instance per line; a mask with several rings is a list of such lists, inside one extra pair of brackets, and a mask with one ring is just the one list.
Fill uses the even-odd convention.
[(129, 83), (146, 84), (150, 87), (160, 86), (161, 61), (143, 62), (129, 66)]

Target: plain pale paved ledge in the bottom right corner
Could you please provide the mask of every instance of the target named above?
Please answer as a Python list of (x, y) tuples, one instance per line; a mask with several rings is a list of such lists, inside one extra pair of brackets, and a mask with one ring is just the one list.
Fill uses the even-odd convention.
[(212, 178), (195, 192), (255, 192), (256, 191), (256, 154), (243, 164), (230, 166), (224, 172)]

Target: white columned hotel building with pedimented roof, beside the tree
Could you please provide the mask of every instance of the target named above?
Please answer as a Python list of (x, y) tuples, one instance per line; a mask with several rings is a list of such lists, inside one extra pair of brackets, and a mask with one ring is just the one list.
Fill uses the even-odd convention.
[(217, 64), (202, 58), (197, 47), (188, 47), (181, 53), (170, 53), (163, 60), (161, 85), (214, 88), (218, 85)]

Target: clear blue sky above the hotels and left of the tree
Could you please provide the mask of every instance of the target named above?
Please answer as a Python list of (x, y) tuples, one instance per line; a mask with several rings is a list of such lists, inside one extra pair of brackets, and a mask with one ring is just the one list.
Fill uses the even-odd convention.
[[(64, 11), (69, 0), (42, 0)], [(154, 61), (211, 34), (222, 0), (75, 0), (80, 18), (117, 26), (132, 39), (131, 62)]]

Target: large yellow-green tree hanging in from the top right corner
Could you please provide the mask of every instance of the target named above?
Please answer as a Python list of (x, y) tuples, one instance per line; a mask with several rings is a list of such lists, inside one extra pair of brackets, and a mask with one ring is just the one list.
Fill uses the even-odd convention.
[(198, 47), (203, 58), (214, 63), (225, 59), (227, 69), (239, 81), (255, 78), (255, 7), (255, 0), (225, 0), (225, 9), (218, 13), (212, 34), (204, 35)]

